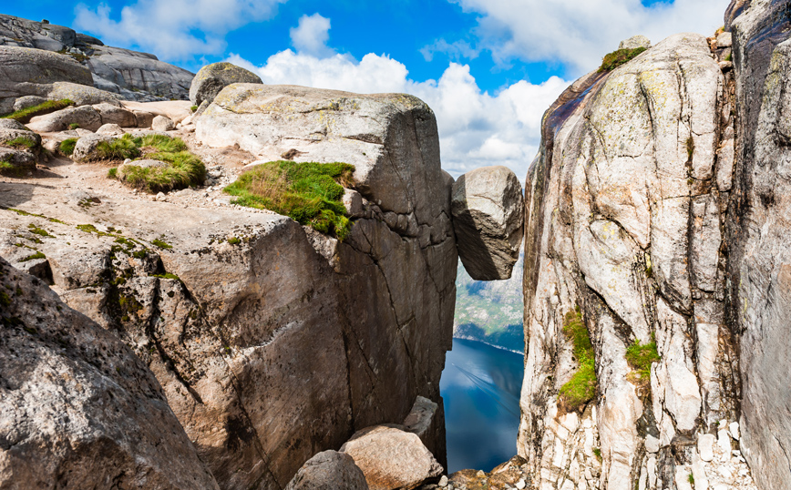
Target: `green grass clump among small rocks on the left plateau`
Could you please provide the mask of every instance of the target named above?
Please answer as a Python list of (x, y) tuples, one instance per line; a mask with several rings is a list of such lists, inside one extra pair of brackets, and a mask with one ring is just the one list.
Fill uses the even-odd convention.
[[(172, 189), (184, 189), (198, 186), (206, 180), (206, 167), (200, 158), (187, 151), (187, 144), (180, 138), (164, 135), (149, 135), (142, 138), (131, 138), (124, 135), (139, 156), (139, 148), (146, 151), (145, 158), (170, 163), (169, 167), (138, 167), (129, 164), (121, 174), (111, 168), (109, 179), (121, 179), (129, 186), (146, 190), (150, 193), (168, 192)], [(120, 140), (119, 139), (119, 140)]]

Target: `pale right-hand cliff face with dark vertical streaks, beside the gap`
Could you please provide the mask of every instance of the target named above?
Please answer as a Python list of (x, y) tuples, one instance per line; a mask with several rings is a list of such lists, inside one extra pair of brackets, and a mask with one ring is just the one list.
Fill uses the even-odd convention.
[[(677, 35), (580, 78), (544, 117), (526, 196), (519, 429), (539, 487), (673, 487), (692, 474), (698, 438), (738, 418), (722, 238), (732, 85), (703, 36)], [(560, 393), (580, 363), (564, 327), (577, 307), (596, 391), (567, 412)], [(641, 348), (653, 362), (635, 360)]]

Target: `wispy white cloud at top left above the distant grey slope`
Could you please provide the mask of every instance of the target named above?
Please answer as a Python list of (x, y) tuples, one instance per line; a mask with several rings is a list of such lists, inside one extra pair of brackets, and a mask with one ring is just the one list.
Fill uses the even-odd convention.
[[(139, 46), (162, 59), (220, 55), (224, 36), (250, 22), (274, 15), (286, 0), (139, 0), (111, 18), (108, 5), (77, 5), (74, 27), (108, 45)], [(196, 33), (199, 33), (196, 34)]]

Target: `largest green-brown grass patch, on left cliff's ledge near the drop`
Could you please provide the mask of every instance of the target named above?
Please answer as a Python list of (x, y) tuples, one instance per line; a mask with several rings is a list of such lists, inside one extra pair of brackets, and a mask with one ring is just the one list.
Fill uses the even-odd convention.
[(341, 199), (353, 172), (347, 163), (272, 161), (244, 172), (225, 192), (236, 196), (234, 204), (271, 209), (344, 240), (351, 222)]

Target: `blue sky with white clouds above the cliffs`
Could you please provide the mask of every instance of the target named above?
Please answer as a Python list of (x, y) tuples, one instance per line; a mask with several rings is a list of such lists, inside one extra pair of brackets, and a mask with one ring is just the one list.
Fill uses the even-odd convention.
[(523, 180), (543, 112), (622, 39), (711, 36), (728, 0), (3, 0), (109, 46), (196, 72), (231, 61), (267, 84), (406, 92), (437, 114), (454, 177)]

